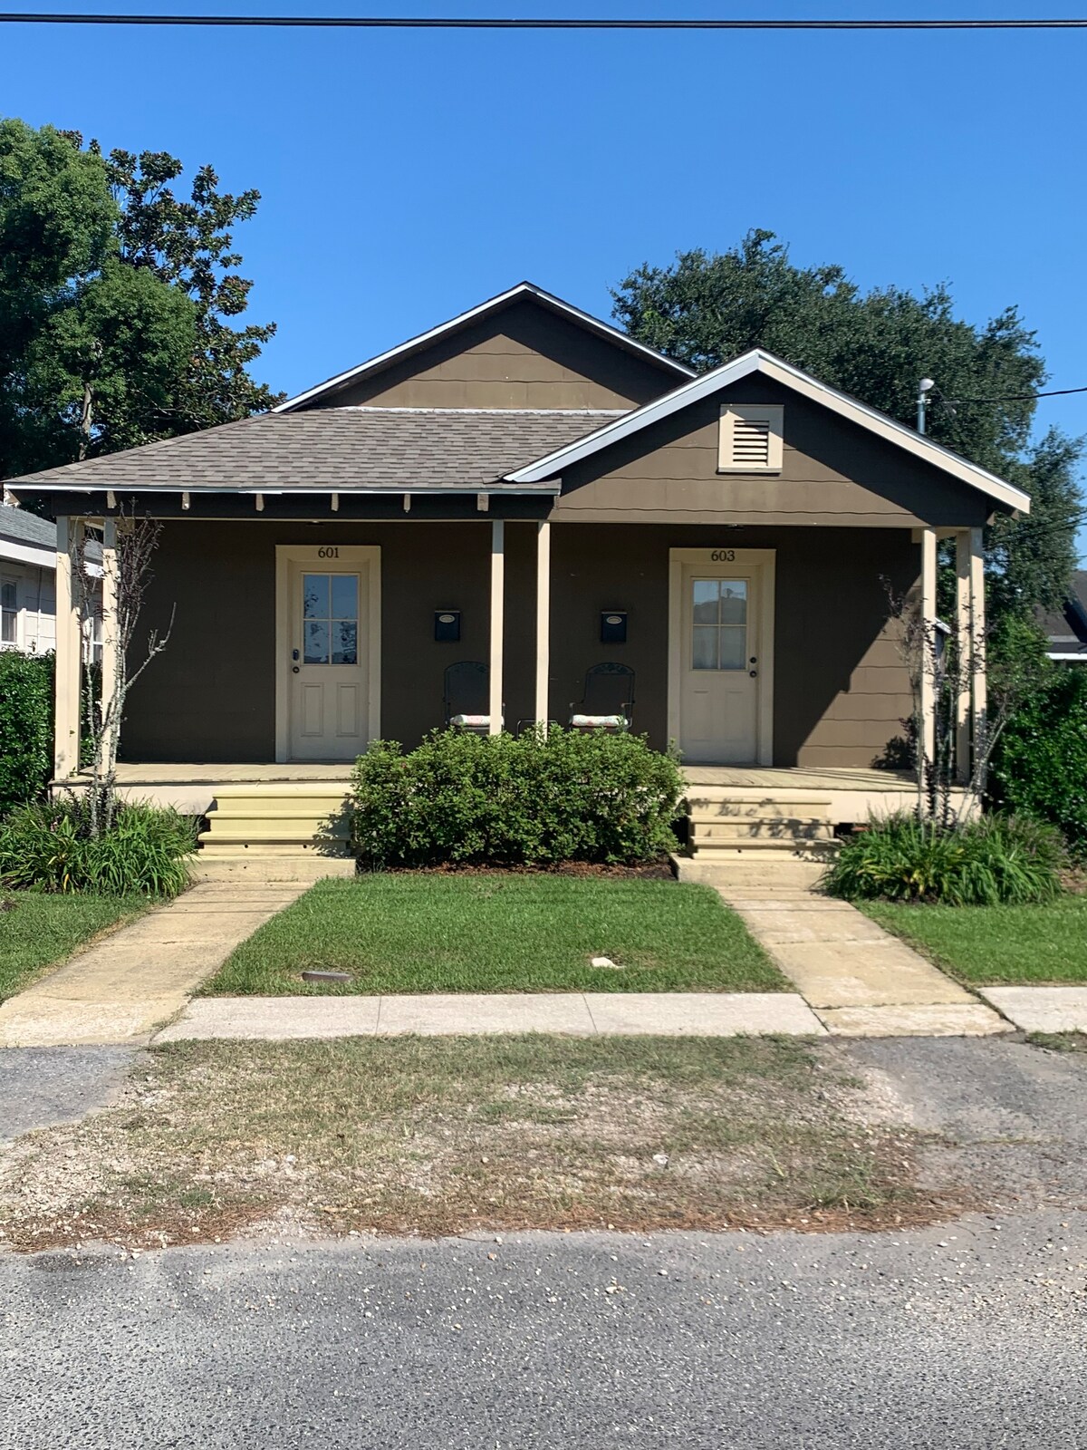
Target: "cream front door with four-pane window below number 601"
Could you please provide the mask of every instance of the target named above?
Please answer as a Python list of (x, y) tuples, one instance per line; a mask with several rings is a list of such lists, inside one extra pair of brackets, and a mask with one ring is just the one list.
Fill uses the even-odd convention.
[(291, 760), (354, 760), (367, 748), (367, 568), (336, 558), (290, 561)]

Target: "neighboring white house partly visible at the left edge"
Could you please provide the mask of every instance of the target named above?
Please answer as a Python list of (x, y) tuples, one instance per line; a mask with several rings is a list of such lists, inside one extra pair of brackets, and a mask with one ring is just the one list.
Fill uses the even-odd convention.
[[(88, 560), (87, 573), (99, 574), (99, 564)], [(87, 644), (93, 657), (100, 658), (97, 609), (87, 629)], [(0, 503), (0, 650), (48, 654), (55, 645), (57, 525), (26, 509)]]

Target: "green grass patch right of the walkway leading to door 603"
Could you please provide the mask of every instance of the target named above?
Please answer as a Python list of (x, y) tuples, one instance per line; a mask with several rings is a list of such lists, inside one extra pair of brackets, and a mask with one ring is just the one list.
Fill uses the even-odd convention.
[(857, 906), (962, 982), (1087, 982), (1087, 896), (1045, 906)]

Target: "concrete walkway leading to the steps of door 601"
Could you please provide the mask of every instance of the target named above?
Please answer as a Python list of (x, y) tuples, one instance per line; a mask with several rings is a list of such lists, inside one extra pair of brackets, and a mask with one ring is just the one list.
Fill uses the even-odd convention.
[(201, 882), (0, 1006), (0, 1047), (146, 1043), (310, 882)]

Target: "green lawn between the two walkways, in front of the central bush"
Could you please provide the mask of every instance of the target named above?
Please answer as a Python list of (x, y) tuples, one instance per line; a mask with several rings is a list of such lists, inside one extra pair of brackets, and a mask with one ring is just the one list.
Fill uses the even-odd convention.
[[(590, 966), (594, 956), (622, 970)], [(352, 980), (304, 983), (306, 969)], [(203, 990), (780, 992), (787, 983), (706, 886), (393, 873), (319, 882), (242, 942)]]

